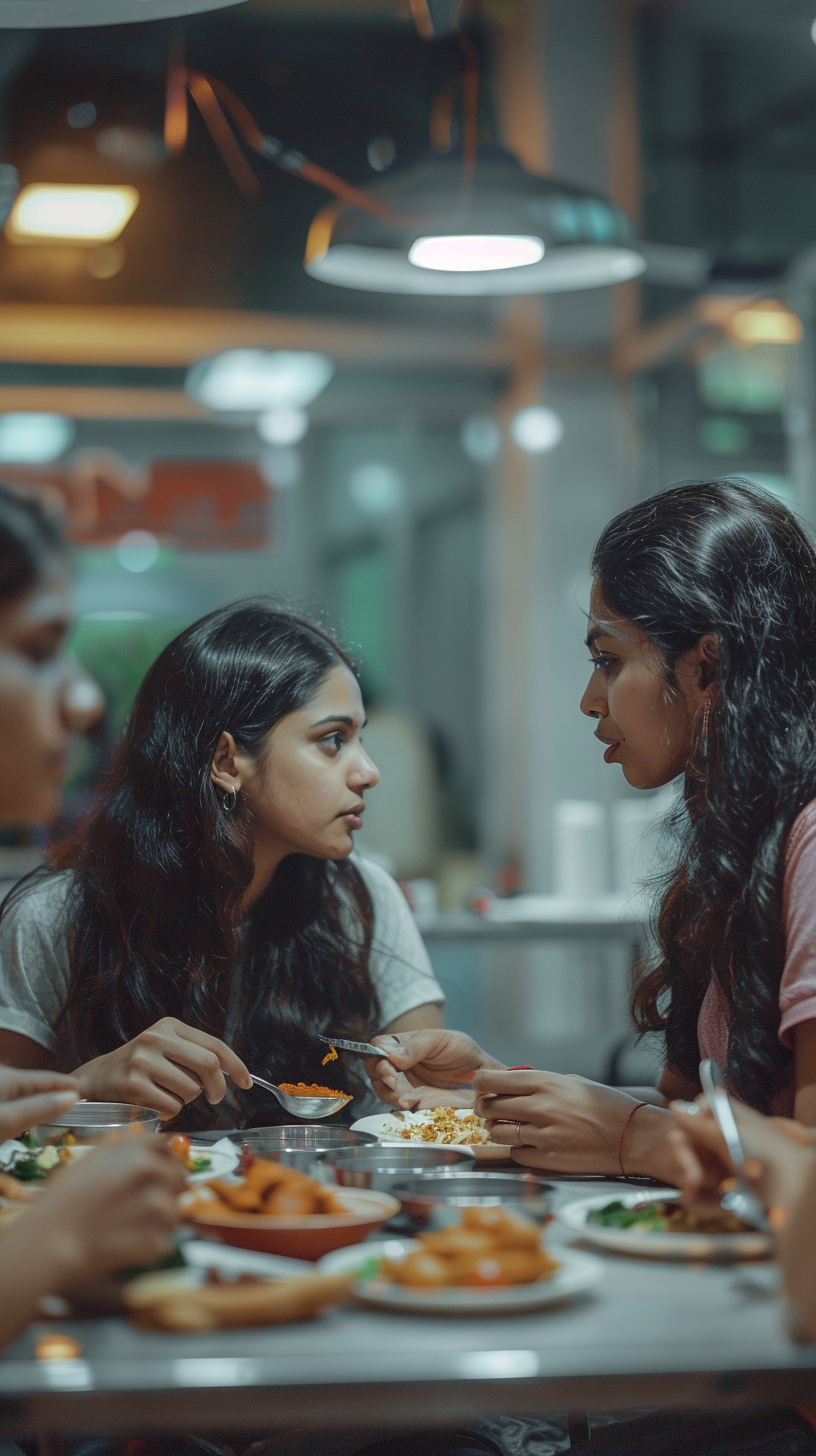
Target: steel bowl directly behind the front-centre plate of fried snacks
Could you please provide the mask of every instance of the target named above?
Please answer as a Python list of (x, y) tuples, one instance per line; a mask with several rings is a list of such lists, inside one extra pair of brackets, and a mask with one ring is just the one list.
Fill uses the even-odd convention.
[(415, 1223), (449, 1223), (456, 1208), (506, 1207), (526, 1219), (542, 1222), (549, 1214), (552, 1184), (532, 1174), (459, 1172), (424, 1174), (393, 1182), (389, 1192), (399, 1198)]

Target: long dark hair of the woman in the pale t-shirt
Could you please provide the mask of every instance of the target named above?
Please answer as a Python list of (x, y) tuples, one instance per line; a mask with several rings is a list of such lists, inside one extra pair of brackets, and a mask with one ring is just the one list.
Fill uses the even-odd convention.
[[(316, 1032), (377, 1028), (360, 872), (290, 855), (240, 925), (251, 810), (239, 795), (224, 814), (210, 779), (223, 731), (259, 757), (274, 724), (338, 664), (353, 670), (328, 632), (264, 598), (203, 617), (153, 662), (99, 807), (45, 871), (73, 871), (63, 1064), (111, 1051), (162, 1016), (223, 1037), (229, 1010), (251, 1070), (315, 1082), (325, 1051)], [(342, 1076), (356, 1091), (354, 1066)]]

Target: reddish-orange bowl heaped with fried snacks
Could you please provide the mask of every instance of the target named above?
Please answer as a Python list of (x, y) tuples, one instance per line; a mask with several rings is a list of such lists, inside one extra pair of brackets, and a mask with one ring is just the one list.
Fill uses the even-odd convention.
[(345, 1213), (310, 1213), (299, 1219), (255, 1213), (236, 1213), (232, 1219), (213, 1214), (207, 1219), (197, 1213), (189, 1222), (203, 1239), (313, 1262), (332, 1249), (361, 1243), (401, 1208), (398, 1198), (367, 1188), (332, 1188), (332, 1194), (344, 1204)]

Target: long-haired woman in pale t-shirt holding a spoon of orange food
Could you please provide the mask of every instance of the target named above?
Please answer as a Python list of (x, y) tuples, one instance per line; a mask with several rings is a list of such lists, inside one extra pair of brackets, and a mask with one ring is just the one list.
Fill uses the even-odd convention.
[(361, 1096), (319, 1032), (443, 1025), (399, 888), (351, 855), (379, 778), (363, 722), (342, 648), (265, 598), (170, 642), (102, 802), (3, 907), (0, 1061), (165, 1120), (204, 1092), (219, 1112), (184, 1125), (252, 1125), (286, 1117), (248, 1069)]

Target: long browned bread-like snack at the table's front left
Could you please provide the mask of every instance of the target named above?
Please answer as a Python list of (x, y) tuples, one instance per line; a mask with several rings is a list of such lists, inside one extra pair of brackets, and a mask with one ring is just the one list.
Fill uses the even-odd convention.
[(125, 1290), (124, 1299), (138, 1329), (192, 1334), (312, 1319), (331, 1305), (342, 1305), (350, 1287), (347, 1274), (307, 1274), (283, 1283), (207, 1284), (157, 1297)]

